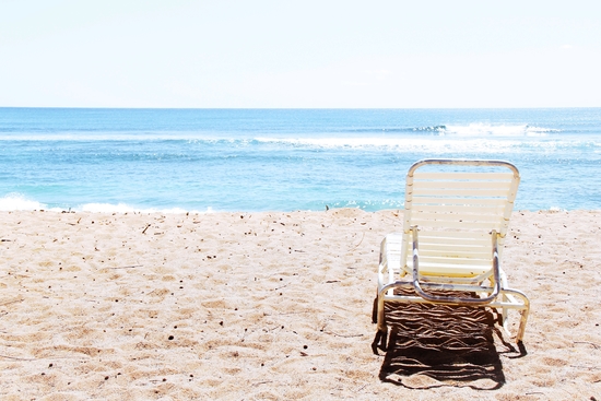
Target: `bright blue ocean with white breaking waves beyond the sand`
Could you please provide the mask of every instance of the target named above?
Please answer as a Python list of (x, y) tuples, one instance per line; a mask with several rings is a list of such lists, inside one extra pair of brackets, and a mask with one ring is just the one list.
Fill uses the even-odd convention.
[(517, 209), (601, 209), (601, 108), (0, 108), (0, 210), (398, 209), (429, 157), (516, 164)]

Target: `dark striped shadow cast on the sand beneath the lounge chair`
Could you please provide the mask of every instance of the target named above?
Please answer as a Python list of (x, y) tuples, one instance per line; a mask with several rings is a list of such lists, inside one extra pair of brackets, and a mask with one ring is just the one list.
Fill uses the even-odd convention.
[(372, 347), (386, 352), (379, 378), (411, 389), (443, 386), (494, 390), (505, 375), (496, 333), (506, 351), (526, 355), (495, 329), (496, 312), (463, 306), (386, 303), (388, 339), (377, 333)]

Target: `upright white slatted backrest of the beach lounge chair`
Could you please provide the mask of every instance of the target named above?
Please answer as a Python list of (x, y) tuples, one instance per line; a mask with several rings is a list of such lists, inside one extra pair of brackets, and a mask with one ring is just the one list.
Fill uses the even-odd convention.
[[(401, 260), (411, 266), (411, 227), (420, 229), (420, 272), (474, 278), (492, 270), (492, 237), (499, 257), (519, 185), (503, 161), (425, 160), (406, 175)], [(410, 269), (409, 269), (410, 270)]]

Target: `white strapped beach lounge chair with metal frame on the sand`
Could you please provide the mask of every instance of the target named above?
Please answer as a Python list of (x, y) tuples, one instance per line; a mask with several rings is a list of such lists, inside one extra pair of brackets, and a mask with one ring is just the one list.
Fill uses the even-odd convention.
[(425, 160), (409, 169), (403, 232), (380, 248), (375, 318), (385, 347), (385, 303), (490, 307), (506, 332), (517, 309), (521, 345), (530, 303), (500, 267), (519, 180), (502, 161)]

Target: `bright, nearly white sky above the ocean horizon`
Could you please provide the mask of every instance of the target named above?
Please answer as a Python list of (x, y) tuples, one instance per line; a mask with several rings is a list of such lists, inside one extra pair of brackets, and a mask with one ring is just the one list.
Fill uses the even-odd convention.
[(0, 0), (0, 107), (601, 107), (601, 1)]

